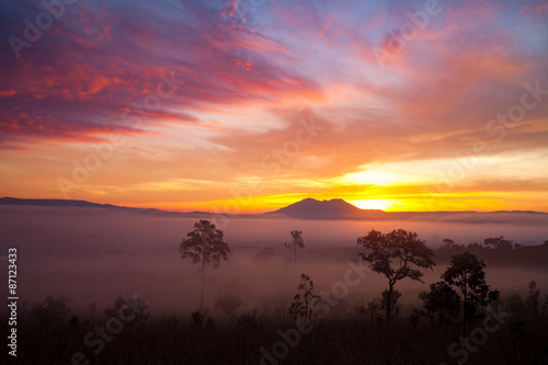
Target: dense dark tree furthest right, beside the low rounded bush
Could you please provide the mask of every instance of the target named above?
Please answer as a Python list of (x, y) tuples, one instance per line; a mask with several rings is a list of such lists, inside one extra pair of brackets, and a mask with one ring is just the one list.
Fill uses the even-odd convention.
[(487, 306), (499, 297), (498, 290), (489, 289), (483, 269), (486, 269), (483, 261), (465, 251), (454, 254), (450, 258), (450, 266), (442, 274), (442, 278), (448, 285), (457, 287), (463, 294), (463, 330), (466, 330), (467, 321), (476, 318), (478, 306)]

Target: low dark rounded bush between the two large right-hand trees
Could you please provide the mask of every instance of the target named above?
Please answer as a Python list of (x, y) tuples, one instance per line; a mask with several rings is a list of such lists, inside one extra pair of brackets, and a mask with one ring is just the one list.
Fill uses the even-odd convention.
[(445, 282), (430, 284), (430, 292), (420, 293), (419, 299), (427, 316), (437, 317), (439, 323), (447, 317), (457, 318), (460, 312), (460, 296)]

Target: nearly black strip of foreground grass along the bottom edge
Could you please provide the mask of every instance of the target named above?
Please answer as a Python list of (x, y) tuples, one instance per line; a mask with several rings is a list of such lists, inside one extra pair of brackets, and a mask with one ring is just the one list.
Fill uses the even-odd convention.
[[(18, 326), (18, 358), (14, 364), (71, 364), (82, 352), (89, 364), (260, 364), (261, 347), (271, 354), (278, 343), (279, 330), (295, 328), (288, 318), (249, 317), (246, 321), (226, 320), (193, 326), (187, 318), (164, 318), (126, 326), (98, 354), (98, 346), (87, 346), (84, 338), (105, 321), (56, 323), (43, 328), (36, 322)], [(250, 320), (249, 320), (250, 319)], [(548, 364), (548, 321), (540, 318), (511, 330), (511, 322), (490, 333), (487, 341), (468, 352), (461, 364)], [(369, 323), (362, 316), (315, 320), (309, 333), (287, 345), (278, 364), (455, 364), (447, 350), (461, 335), (456, 326), (437, 327), (426, 320), (413, 327), (404, 319), (391, 326)], [(7, 327), (3, 324), (3, 333)], [(481, 322), (477, 323), (481, 327)], [(471, 327), (472, 330), (475, 327)], [(295, 333), (295, 332), (293, 332)], [(469, 331), (466, 332), (469, 337)], [(94, 337), (96, 339), (96, 337)], [(459, 346), (459, 349), (463, 349)], [(85, 364), (84, 361), (75, 364)], [(264, 361), (263, 364), (272, 364)]]

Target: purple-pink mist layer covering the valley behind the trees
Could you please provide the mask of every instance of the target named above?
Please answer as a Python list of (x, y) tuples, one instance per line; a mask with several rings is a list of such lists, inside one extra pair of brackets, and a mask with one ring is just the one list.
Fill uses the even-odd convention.
[[(102, 312), (121, 295), (138, 295), (149, 303), (152, 316), (186, 315), (199, 305), (201, 274), (179, 253), (180, 242), (199, 218), (14, 206), (0, 207), (0, 254), (5, 255), (10, 247), (18, 248), (21, 300), (33, 304), (47, 295), (66, 296), (72, 312), (82, 316), (89, 316), (92, 301)], [(233, 294), (242, 300), (240, 312), (286, 310), (301, 273), (311, 276), (317, 292), (330, 292), (334, 283), (343, 281), (349, 261), (356, 262), (361, 251), (356, 239), (370, 229), (415, 231), (427, 246), (437, 248), (444, 238), (456, 243), (481, 243), (484, 238), (500, 236), (522, 244), (540, 244), (548, 239), (547, 227), (545, 221), (501, 225), (230, 218), (222, 230), (231, 253), (219, 269), (206, 267), (205, 306), (210, 315), (221, 318), (224, 313), (215, 304), (219, 297)], [(284, 248), (294, 229), (302, 231), (306, 244), (297, 265)], [(256, 258), (264, 248), (275, 251), (267, 261)], [(437, 262), (425, 273), (425, 284), (410, 280), (398, 283), (402, 309), (416, 305), (416, 295), (437, 282), (446, 267), (446, 263)], [(0, 270), (7, 271), (7, 265)], [(503, 297), (525, 293), (532, 280), (539, 289), (548, 289), (548, 272), (538, 267), (488, 265), (487, 280)], [(333, 312), (351, 312), (379, 297), (386, 286), (384, 276), (369, 272), (338, 301)]]

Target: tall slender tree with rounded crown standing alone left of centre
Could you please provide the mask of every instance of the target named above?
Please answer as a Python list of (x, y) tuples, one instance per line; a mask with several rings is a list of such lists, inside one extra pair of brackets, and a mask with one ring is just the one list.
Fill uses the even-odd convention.
[(194, 224), (194, 230), (186, 235), (179, 247), (181, 259), (190, 258), (193, 264), (201, 264), (202, 297), (199, 308), (204, 308), (204, 275), (206, 264), (219, 267), (220, 260), (228, 260), (230, 247), (222, 240), (222, 231), (208, 220), (201, 219)]

